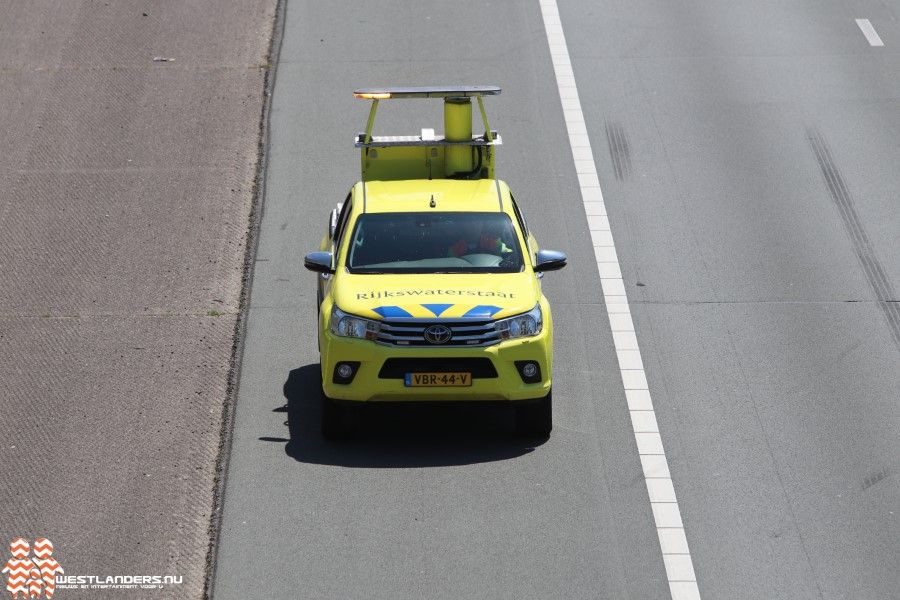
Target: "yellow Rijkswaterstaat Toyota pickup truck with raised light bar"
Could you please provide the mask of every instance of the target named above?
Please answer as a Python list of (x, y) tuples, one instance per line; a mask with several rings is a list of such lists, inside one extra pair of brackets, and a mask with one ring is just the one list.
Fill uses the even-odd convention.
[[(498, 401), (516, 429), (552, 429), (553, 320), (541, 250), (509, 187), (494, 177), (500, 136), (483, 96), (493, 86), (365, 89), (356, 138), (362, 178), (332, 210), (317, 252), (322, 432), (345, 433), (364, 402)], [(374, 136), (379, 101), (439, 98), (443, 136)], [(485, 131), (472, 134), (472, 100)]]

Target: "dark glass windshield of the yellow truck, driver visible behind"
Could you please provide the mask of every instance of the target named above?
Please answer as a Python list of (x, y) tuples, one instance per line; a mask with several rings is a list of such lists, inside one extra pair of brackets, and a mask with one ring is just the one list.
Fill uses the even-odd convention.
[(350, 240), (351, 273), (517, 273), (522, 253), (505, 213), (369, 213)]

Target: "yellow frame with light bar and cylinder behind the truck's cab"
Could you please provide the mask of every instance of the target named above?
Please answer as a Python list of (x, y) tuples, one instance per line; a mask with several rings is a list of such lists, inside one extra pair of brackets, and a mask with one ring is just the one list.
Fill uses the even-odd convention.
[[(496, 96), (495, 85), (442, 85), (424, 87), (362, 88), (354, 97), (371, 100), (366, 130), (354, 139), (362, 153), (362, 179), (482, 179), (494, 177), (492, 146), (502, 143), (490, 128), (483, 96)], [(380, 100), (443, 98), (444, 135), (423, 129), (421, 135), (373, 136)], [(478, 102), (483, 135), (472, 135), (472, 101)]]

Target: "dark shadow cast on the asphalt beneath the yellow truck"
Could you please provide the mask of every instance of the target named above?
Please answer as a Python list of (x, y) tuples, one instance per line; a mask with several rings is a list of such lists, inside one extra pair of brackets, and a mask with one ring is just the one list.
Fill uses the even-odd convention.
[[(320, 423), (319, 365), (294, 369), (284, 383), (293, 459), (347, 467), (403, 468), (463, 465), (507, 460), (528, 454), (546, 440), (513, 435), (507, 407), (433, 404), (364, 405), (355, 411), (347, 440), (325, 440)], [(285, 441), (283, 438), (260, 438)]]

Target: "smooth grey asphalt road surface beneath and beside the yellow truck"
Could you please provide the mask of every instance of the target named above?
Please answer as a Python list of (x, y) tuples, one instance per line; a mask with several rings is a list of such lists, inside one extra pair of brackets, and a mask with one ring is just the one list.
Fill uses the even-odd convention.
[[(900, 7), (559, 11), (701, 595), (897, 597)], [(447, 82), (502, 86), (498, 173), (570, 256), (553, 436), (472, 408), (325, 443), (302, 257), (358, 177), (350, 92)], [(291, 0), (267, 176), (215, 597), (670, 597), (537, 0)]]

